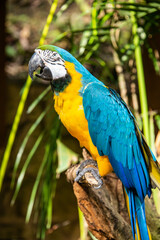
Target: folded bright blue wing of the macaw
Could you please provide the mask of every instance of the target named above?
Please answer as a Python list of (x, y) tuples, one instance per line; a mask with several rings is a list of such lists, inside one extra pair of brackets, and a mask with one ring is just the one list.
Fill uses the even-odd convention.
[(126, 189), (143, 202), (150, 195), (150, 178), (142, 137), (121, 97), (102, 83), (90, 83), (83, 92), (83, 107), (93, 144), (107, 155)]

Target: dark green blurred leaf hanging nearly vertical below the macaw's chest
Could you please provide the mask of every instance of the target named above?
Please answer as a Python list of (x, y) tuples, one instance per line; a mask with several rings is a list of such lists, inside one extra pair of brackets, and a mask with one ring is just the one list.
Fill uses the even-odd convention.
[(47, 228), (52, 223), (52, 201), (56, 192), (56, 168), (57, 168), (57, 144), (56, 140), (59, 136), (60, 121), (58, 117), (54, 119), (54, 128), (50, 130), (50, 137), (46, 144), (45, 155), (47, 161), (44, 169), (43, 181), (41, 185), (41, 194), (39, 197), (38, 210), (38, 232), (37, 237), (44, 239)]

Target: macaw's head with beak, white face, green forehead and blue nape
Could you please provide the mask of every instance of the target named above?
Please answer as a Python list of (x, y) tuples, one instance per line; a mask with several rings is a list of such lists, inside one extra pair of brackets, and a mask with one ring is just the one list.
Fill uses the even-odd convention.
[[(71, 77), (65, 62), (74, 63), (78, 71), (86, 69), (66, 50), (43, 45), (35, 49), (29, 61), (29, 75), (33, 79), (33, 73), (40, 69), (36, 76), (51, 83), (52, 89), (63, 91), (71, 81)], [(83, 69), (83, 70), (82, 70)]]

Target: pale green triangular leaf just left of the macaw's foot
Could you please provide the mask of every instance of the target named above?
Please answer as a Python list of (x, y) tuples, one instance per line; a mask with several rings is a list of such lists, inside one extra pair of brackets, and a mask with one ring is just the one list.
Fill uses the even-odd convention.
[(58, 168), (57, 173), (62, 173), (70, 166), (72, 160), (78, 159), (78, 154), (66, 147), (59, 139), (57, 140)]

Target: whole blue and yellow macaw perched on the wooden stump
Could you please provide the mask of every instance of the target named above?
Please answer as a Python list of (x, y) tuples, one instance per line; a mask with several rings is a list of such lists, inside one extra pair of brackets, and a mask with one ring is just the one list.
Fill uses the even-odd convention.
[(37, 68), (37, 76), (51, 84), (62, 123), (97, 161), (99, 174), (114, 170), (122, 181), (133, 238), (151, 239), (144, 198), (150, 197), (152, 183), (160, 188), (160, 169), (131, 111), (116, 91), (59, 47), (35, 49), (29, 62), (31, 78)]

